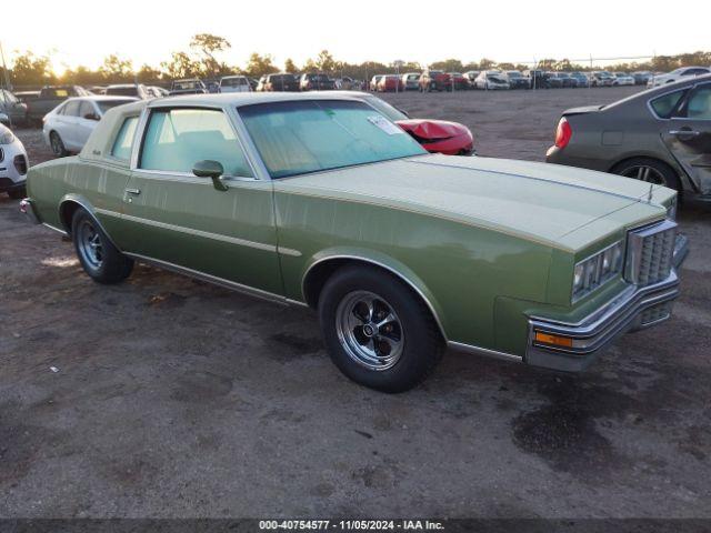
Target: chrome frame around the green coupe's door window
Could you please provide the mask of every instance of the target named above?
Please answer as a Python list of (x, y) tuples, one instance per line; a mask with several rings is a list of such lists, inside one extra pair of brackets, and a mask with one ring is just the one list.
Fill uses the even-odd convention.
[(173, 109), (192, 109), (192, 110), (204, 110), (204, 111), (220, 111), (227, 118), (230, 128), (234, 132), (234, 137), (237, 139), (239, 148), (242, 150), (244, 154), (244, 160), (249, 165), (249, 169), (252, 171), (252, 175), (229, 175), (223, 174), (226, 183), (229, 182), (244, 182), (244, 181), (264, 181), (264, 175), (269, 177), (267, 173), (267, 168), (263, 165), (261, 160), (260, 164), (256, 164), (253, 150), (256, 148), (251, 142), (248, 144), (244, 142), (244, 138), (249, 139), (247, 134), (247, 129), (244, 124), (241, 122), (241, 119), (237, 112), (231, 112), (229, 107), (224, 108), (222, 105), (206, 105), (206, 104), (162, 104), (156, 107), (146, 107), (141, 112), (138, 129), (137, 129), (137, 139), (138, 142), (133, 143), (133, 151), (131, 154), (131, 171), (132, 172), (141, 172), (146, 174), (156, 174), (163, 179), (177, 179), (177, 180), (186, 180), (190, 179), (196, 180), (196, 182), (203, 183), (206, 181), (204, 178), (199, 178), (192, 172), (182, 172), (182, 171), (172, 171), (172, 170), (154, 170), (154, 169), (142, 169), (139, 163), (141, 161), (141, 157), (143, 153), (143, 144), (146, 142), (146, 135), (148, 134), (148, 127), (150, 124), (150, 120), (153, 113), (158, 112), (170, 112)]

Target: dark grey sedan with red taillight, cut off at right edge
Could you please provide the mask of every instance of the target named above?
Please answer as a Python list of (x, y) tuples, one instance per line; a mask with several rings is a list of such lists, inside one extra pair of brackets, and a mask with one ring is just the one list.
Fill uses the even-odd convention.
[(564, 111), (547, 161), (711, 201), (711, 76)]

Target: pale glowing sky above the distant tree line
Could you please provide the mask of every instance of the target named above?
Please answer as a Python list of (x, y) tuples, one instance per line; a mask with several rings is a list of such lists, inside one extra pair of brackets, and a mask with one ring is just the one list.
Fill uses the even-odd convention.
[(59, 73), (79, 64), (96, 68), (110, 53), (131, 59), (137, 69), (158, 67), (172, 51), (188, 50), (191, 36), (201, 32), (227, 38), (232, 49), (220, 59), (240, 67), (251, 52), (270, 53), (283, 66), (287, 58), (301, 64), (323, 49), (348, 62), (422, 64), (448, 58), (532, 62), (711, 49), (711, 1), (680, 6), (674, 23), (662, 2), (649, 0), (73, 0), (40, 2), (28, 23), (0, 21), (0, 43), (10, 63), (16, 50), (51, 54)]

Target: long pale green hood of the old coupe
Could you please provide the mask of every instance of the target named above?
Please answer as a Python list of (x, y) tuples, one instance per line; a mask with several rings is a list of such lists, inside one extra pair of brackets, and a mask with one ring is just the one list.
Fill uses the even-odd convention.
[[(637, 219), (663, 215), (663, 208), (647, 203), (650, 185), (635, 180), (477, 157), (420, 155), (281, 179), (274, 187), (278, 192), (420, 211), (567, 250), (604, 237), (599, 231), (609, 233), (620, 224), (638, 223)], [(632, 204), (643, 207), (641, 215), (634, 210), (635, 220), (618, 215), (615, 224), (592, 224)], [(584, 227), (595, 230), (582, 241), (565, 238)]]

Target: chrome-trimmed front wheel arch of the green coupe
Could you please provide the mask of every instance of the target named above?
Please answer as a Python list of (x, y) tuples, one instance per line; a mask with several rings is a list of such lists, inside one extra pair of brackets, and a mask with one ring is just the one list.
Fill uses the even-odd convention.
[(312, 309), (318, 306), (319, 295), (327, 281), (337, 270), (346, 265), (365, 265), (387, 273), (402, 281), (414, 295), (420, 299), (429, 310), (437, 324), (442, 340), (448, 342), (444, 329), (443, 312), (437, 299), (427, 288), (425, 283), (411, 269), (400, 261), (381, 253), (364, 251), (333, 251), (314, 257), (304, 269), (301, 278), (301, 292), (303, 301)]

